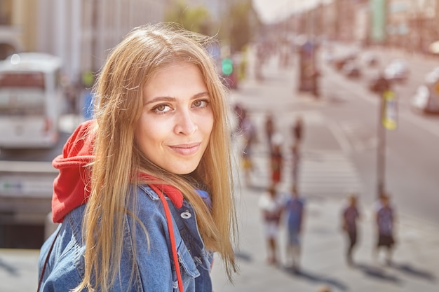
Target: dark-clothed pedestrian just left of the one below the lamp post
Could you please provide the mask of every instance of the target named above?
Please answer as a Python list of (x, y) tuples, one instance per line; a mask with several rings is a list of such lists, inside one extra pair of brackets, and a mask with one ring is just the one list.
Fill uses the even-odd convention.
[(349, 195), (346, 206), (342, 211), (342, 228), (346, 232), (348, 244), (346, 245), (346, 262), (353, 265), (352, 251), (357, 244), (358, 226), (357, 221), (360, 218), (360, 212), (357, 207), (357, 195)]

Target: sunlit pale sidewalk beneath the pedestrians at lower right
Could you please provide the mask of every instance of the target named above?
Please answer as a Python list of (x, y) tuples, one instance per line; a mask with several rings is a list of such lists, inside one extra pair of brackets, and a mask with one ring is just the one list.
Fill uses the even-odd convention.
[[(212, 271), (216, 292), (312, 292), (323, 285), (331, 291), (438, 291), (439, 228), (398, 216), (393, 264), (387, 266), (383, 254), (377, 259), (372, 257), (375, 241), (372, 206), (360, 206), (363, 218), (354, 253), (356, 266), (349, 267), (344, 260), (344, 234), (339, 228), (342, 202), (337, 199), (306, 199), (299, 273), (267, 265), (262, 219), (257, 208), (260, 194), (260, 190), (241, 190), (238, 207), (241, 249), (236, 253), (241, 274), (235, 277), (234, 285), (229, 284), (218, 259)], [(278, 244), (282, 258), (283, 230)]]

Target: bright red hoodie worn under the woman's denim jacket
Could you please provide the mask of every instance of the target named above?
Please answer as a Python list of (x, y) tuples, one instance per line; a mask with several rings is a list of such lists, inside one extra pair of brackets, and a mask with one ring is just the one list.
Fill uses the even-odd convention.
[[(62, 155), (52, 162), (53, 167), (60, 173), (53, 181), (52, 218), (53, 222), (61, 223), (64, 217), (76, 207), (85, 204), (90, 195), (90, 171), (86, 167), (93, 162), (94, 135), (90, 130), (95, 126), (95, 120), (87, 120), (79, 125), (67, 140)], [(157, 180), (149, 174), (140, 174), (145, 179)], [(183, 204), (180, 190), (169, 185), (158, 185), (166, 193), (175, 207)]]

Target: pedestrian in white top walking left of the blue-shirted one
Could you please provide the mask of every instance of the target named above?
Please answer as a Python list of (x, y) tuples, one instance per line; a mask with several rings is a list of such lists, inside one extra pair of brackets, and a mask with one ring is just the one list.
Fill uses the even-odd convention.
[(264, 235), (267, 246), (267, 262), (269, 264), (278, 263), (278, 230), (281, 221), (283, 202), (276, 192), (276, 188), (271, 186), (268, 192), (259, 197), (259, 209), (262, 212), (264, 222)]

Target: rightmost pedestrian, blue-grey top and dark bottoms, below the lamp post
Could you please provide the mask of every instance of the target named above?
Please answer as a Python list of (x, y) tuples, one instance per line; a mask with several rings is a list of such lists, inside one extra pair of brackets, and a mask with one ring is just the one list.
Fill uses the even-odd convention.
[(390, 204), (390, 198), (387, 194), (382, 194), (380, 197), (380, 204), (377, 206), (377, 249), (376, 256), (379, 254), (379, 249), (386, 249), (386, 263), (391, 265), (393, 246), (395, 239), (393, 237), (394, 224), (396, 221), (395, 210)]

